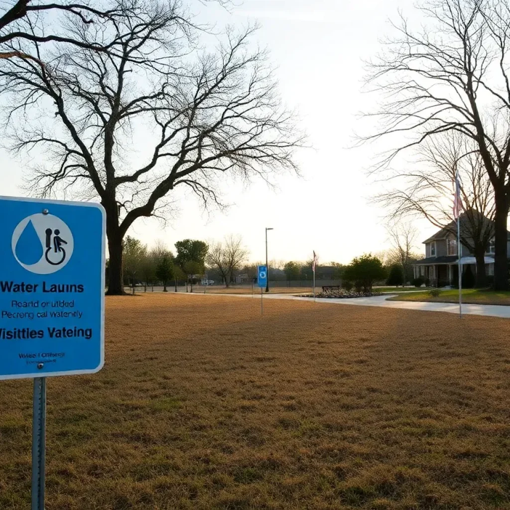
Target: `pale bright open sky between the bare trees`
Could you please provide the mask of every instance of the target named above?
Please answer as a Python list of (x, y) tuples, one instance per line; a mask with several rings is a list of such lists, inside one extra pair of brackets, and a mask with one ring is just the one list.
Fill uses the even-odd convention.
[[(219, 28), (259, 22), (253, 43), (269, 49), (279, 92), (297, 110), (312, 148), (297, 154), (301, 175), (277, 177), (274, 188), (223, 182), (226, 211), (204, 212), (194, 196), (178, 194), (178, 211), (166, 224), (138, 220), (129, 234), (149, 246), (161, 239), (170, 248), (185, 238), (241, 235), (251, 261), (265, 258), (265, 227), (274, 229), (269, 258), (278, 261), (307, 260), (315, 250), (321, 263), (348, 263), (388, 247), (383, 212), (370, 203), (381, 185), (367, 172), (380, 148), (354, 148), (353, 135), (361, 128), (360, 112), (378, 99), (363, 90), (363, 61), (378, 52), (398, 9), (412, 13), (412, 0), (245, 0), (230, 12), (197, 5), (201, 19)], [(23, 160), (0, 149), (0, 194), (24, 195), (24, 171)], [(423, 221), (416, 226), (421, 252), (420, 242), (437, 228)]]

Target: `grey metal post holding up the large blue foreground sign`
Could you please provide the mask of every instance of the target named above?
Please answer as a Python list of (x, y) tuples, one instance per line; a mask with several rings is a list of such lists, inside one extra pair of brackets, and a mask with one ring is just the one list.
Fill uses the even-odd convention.
[(32, 406), (32, 510), (44, 510), (45, 461), (46, 377), (35, 377)]

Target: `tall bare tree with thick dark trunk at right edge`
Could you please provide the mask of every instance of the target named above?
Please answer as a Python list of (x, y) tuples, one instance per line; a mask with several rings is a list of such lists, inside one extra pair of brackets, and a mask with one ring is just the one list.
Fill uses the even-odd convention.
[(494, 189), (495, 287), (506, 289), (510, 207), (510, 6), (505, 0), (422, 0), (422, 28), (402, 16), (369, 83), (385, 99), (368, 139), (401, 140), (374, 171), (404, 149), (446, 132), (472, 140)]

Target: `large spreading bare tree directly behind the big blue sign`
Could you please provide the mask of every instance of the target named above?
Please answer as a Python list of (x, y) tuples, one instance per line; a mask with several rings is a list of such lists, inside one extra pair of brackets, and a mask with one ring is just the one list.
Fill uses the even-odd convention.
[[(90, 48), (57, 48), (51, 66), (9, 60), (0, 87), (12, 105), (13, 147), (39, 147), (50, 164), (33, 190), (98, 198), (107, 214), (109, 293), (122, 293), (122, 239), (141, 217), (165, 217), (168, 195), (187, 187), (221, 206), (219, 181), (297, 171), (302, 137), (281, 104), (267, 55), (249, 49), (253, 29), (228, 31), (213, 53), (178, 0), (130, 0), (115, 30), (69, 20)], [(39, 60), (44, 47), (31, 42)], [(16, 120), (30, 106), (38, 118)], [(141, 143), (137, 143), (143, 140)]]

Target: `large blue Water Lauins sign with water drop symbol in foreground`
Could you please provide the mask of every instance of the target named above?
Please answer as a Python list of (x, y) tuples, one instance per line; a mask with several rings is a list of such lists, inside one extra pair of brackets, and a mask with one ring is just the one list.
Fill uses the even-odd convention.
[(0, 197), (0, 379), (97, 372), (105, 360), (105, 211)]

